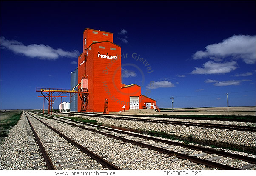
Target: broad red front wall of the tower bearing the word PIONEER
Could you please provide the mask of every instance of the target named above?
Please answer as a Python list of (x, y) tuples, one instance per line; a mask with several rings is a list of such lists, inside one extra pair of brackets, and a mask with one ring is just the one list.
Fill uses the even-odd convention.
[[(100, 47), (104, 46), (105, 49)], [(110, 50), (116, 48), (116, 50)], [(121, 54), (121, 47), (111, 42), (93, 44), (93, 109), (94, 112), (104, 111), (104, 101), (108, 99), (109, 111), (120, 111), (121, 100), (119, 88), (121, 87), (121, 59), (106, 59), (98, 57), (98, 52), (103, 55), (115, 56)], [(90, 91), (91, 92), (91, 91)]]

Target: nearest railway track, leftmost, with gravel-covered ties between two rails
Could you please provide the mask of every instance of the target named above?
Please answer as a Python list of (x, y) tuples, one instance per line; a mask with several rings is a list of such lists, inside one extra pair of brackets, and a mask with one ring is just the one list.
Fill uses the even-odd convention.
[(29, 118), (26, 113), (48, 170), (121, 170), (30, 113), (28, 115), (34, 118)]

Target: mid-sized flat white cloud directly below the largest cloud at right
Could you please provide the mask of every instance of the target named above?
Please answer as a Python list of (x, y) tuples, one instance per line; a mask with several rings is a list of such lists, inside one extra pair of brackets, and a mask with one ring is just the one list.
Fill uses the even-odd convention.
[(219, 74), (219, 73), (229, 73), (233, 70), (236, 70), (236, 62), (226, 62), (226, 63), (216, 63), (213, 61), (208, 61), (203, 64), (203, 68), (195, 67), (196, 70), (193, 70), (191, 74)]

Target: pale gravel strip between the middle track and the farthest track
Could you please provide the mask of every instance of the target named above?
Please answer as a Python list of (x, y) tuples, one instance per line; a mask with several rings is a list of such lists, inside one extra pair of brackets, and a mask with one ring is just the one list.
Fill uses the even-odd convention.
[[(60, 114), (58, 114), (60, 115)], [(68, 116), (66, 114), (61, 114), (62, 116)], [(159, 124), (159, 123), (148, 123), (148, 122), (138, 122), (129, 120), (116, 120), (108, 119), (102, 117), (91, 117), (86, 115), (74, 115), (76, 117), (88, 118), (91, 120), (97, 120), (98, 123), (104, 123), (108, 125), (121, 126), (132, 129), (140, 129), (147, 131), (162, 131), (165, 133), (173, 134), (176, 136), (190, 137), (201, 140), (211, 140), (216, 142), (226, 142), (235, 145), (245, 145), (245, 146), (256, 146), (256, 135), (255, 132), (250, 131), (230, 131), (225, 129), (205, 129), (196, 126), (179, 126), (170, 124)], [(187, 122), (192, 122), (193, 120), (186, 120)], [(202, 120), (196, 120), (197, 122), (203, 122)], [(208, 120), (209, 121), (209, 120)], [(215, 121), (216, 123), (216, 121)], [(227, 123), (227, 122), (222, 122)], [(232, 123), (237, 125), (245, 125), (244, 123)]]

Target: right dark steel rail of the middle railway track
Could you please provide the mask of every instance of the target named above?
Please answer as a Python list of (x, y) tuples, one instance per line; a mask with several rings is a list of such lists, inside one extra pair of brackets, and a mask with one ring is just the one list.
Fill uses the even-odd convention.
[[(54, 117), (54, 119), (56, 119), (56, 118), (60, 118), (60, 117)], [(60, 118), (60, 119), (62, 119), (62, 118)], [(56, 119), (56, 120), (59, 120), (59, 119)], [(179, 143), (179, 142), (172, 142), (172, 141), (169, 141), (169, 140), (163, 140), (163, 139), (159, 139), (159, 138), (155, 138), (155, 137), (144, 136), (144, 135), (141, 135), (141, 134), (134, 134), (134, 133), (126, 132), (126, 131), (110, 129), (110, 128), (103, 127), (103, 126), (97, 126), (97, 125), (84, 123), (84, 122), (79, 122), (79, 121), (73, 121), (73, 120), (69, 120), (69, 119), (64, 119), (64, 120), (68, 120), (68, 121), (71, 121), (71, 122), (74, 122), (74, 123), (84, 124), (84, 125), (87, 125), (87, 126), (97, 127), (97, 128), (100, 128), (100, 129), (105, 129), (105, 130), (109, 130), (109, 131), (113, 131), (113, 132), (118, 132), (118, 133), (122, 133), (122, 134), (127, 134), (127, 135), (134, 136), (134, 137), (140, 137), (140, 138), (147, 139), (147, 140), (162, 142), (162, 143), (169, 144), (169, 145), (176, 145), (176, 146), (181, 146), (181, 147), (189, 148), (189, 149), (193, 149), (193, 150), (208, 152), (208, 153), (211, 153), (211, 154), (217, 154), (217, 155), (221, 155), (221, 156), (225, 156), (225, 157), (229, 157), (229, 158), (233, 158), (233, 159), (239, 159), (239, 160), (243, 160), (243, 161), (246, 161), (246, 162), (249, 162), (249, 163), (252, 163), (252, 164), (256, 164), (256, 159), (252, 158), (252, 157), (248, 157), (248, 156), (243, 156), (243, 155), (238, 155), (238, 154), (230, 154), (230, 153), (225, 152), (225, 151), (218, 151), (218, 150), (214, 150), (214, 149), (211, 149), (211, 148), (205, 148), (205, 147), (200, 147), (200, 146), (195, 146), (195, 145), (188, 145), (188, 144), (183, 144), (183, 143)], [(67, 123), (63, 120), (59, 120), (59, 121)], [(68, 124), (73, 125), (73, 123), (68, 123)]]

